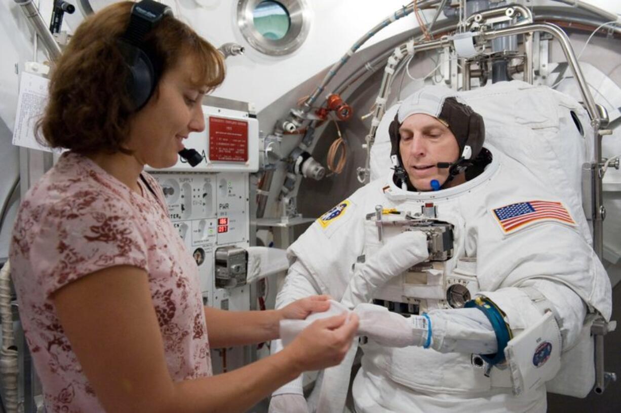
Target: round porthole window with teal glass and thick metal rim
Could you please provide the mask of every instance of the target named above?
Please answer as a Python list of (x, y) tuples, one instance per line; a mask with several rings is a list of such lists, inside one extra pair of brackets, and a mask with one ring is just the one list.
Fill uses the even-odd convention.
[(309, 29), (305, 0), (239, 0), (237, 24), (243, 37), (261, 53), (288, 55), (299, 48)]

